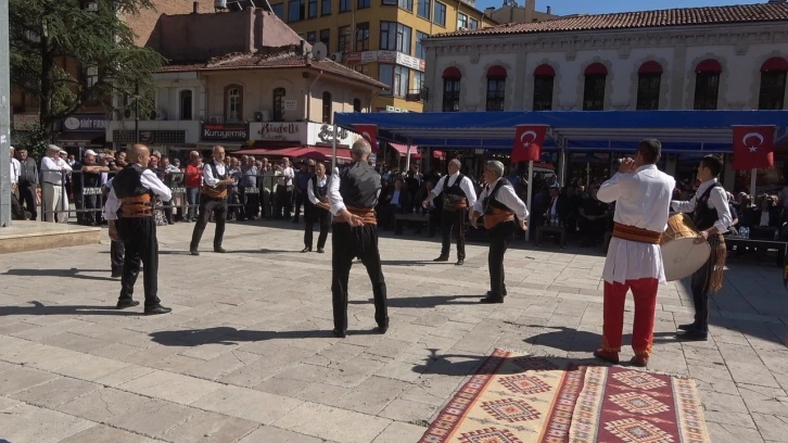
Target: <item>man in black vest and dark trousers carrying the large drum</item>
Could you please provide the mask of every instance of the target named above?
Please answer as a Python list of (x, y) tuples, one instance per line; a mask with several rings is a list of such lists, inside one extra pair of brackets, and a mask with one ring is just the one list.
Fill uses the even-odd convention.
[(673, 201), (674, 211), (691, 213), (695, 227), (700, 231), (696, 243), (709, 242), (711, 255), (700, 269), (692, 274), (690, 289), (695, 303), (695, 321), (679, 325), (682, 340), (709, 340), (709, 293), (722, 288), (725, 269), (725, 240), (723, 233), (733, 224), (728, 207), (727, 193), (717, 181), (723, 161), (716, 155), (707, 155), (698, 166), (698, 180), (701, 181), (695, 197), (688, 202)]

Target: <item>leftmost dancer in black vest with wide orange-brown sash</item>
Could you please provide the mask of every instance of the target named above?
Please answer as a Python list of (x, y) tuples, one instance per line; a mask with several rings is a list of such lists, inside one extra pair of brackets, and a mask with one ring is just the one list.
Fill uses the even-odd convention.
[(135, 144), (127, 154), (128, 166), (117, 173), (104, 206), (104, 218), (110, 225), (110, 238), (123, 242), (125, 248), (120, 299), (117, 308), (137, 306), (132, 299), (135, 282), (143, 266), (145, 314), (166, 314), (169, 307), (158, 300), (158, 240), (153, 202), (156, 198), (169, 201), (169, 188), (148, 169), (151, 153), (142, 144)]

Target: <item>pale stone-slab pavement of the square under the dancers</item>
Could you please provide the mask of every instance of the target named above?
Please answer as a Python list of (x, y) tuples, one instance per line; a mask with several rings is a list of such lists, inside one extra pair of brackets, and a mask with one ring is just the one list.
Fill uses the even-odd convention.
[[(230, 224), (220, 255), (209, 226), (193, 257), (192, 227), (160, 229), (165, 316), (112, 309), (106, 241), (0, 255), (0, 441), (416, 442), (494, 347), (586, 359), (600, 342), (603, 257), (587, 250), (520, 242), (506, 303), (480, 305), (485, 244), (455, 267), (430, 262), (437, 242), (382, 238), (391, 329), (374, 333), (357, 265), (340, 340), (330, 239), (300, 254), (293, 224)], [(713, 442), (788, 442), (788, 291), (747, 258), (729, 261), (709, 342), (674, 341), (691, 303), (660, 289), (650, 369), (698, 380)]]

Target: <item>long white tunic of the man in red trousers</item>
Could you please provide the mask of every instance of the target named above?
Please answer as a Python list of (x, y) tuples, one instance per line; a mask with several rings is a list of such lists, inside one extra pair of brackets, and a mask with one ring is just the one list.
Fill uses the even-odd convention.
[[(645, 165), (634, 174), (618, 173), (612, 176), (601, 185), (597, 199), (605, 203), (615, 202), (615, 223), (664, 232), (675, 186), (676, 180), (660, 172), (656, 165)], [(656, 278), (660, 283), (665, 282), (659, 244), (613, 237), (602, 279), (609, 283), (624, 283), (641, 278)]]

